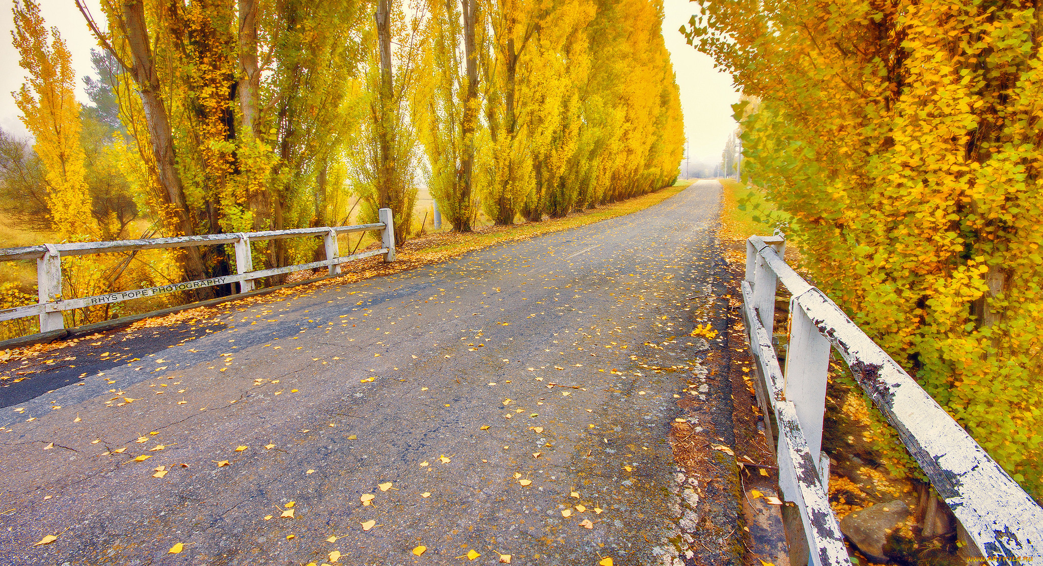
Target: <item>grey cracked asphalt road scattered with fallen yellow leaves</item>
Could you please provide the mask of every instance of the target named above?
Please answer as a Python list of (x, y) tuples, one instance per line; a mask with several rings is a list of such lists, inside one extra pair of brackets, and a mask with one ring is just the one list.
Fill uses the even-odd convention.
[(111, 367), (3, 409), (0, 564), (681, 564), (678, 402), (731, 415), (687, 336), (720, 325), (719, 197), (233, 305), (141, 359), (99, 339)]

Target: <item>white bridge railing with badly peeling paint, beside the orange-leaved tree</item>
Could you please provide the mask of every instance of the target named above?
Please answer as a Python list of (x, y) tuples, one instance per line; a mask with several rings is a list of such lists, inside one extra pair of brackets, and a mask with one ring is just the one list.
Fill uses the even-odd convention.
[[(757, 402), (778, 460), (783, 498), (800, 511), (812, 564), (851, 564), (829, 507), (829, 458), (822, 451), (830, 348), (874, 404), (989, 564), (1043, 565), (1043, 509), (906, 372), (822, 291), (783, 260), (781, 236), (746, 245), (742, 281), (747, 338), (756, 362)], [(791, 293), (785, 368), (772, 344), (778, 284)], [(772, 430), (774, 415), (777, 430)]]

